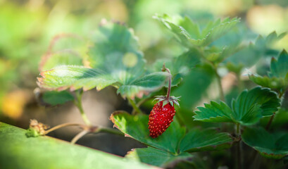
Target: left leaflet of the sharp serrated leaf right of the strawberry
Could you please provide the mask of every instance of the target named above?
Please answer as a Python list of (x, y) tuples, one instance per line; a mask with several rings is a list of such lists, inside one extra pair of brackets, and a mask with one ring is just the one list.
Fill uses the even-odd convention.
[(218, 123), (233, 122), (232, 110), (223, 101), (220, 101), (220, 104), (211, 101), (210, 104), (204, 104), (204, 107), (197, 108), (199, 111), (195, 111), (194, 120)]

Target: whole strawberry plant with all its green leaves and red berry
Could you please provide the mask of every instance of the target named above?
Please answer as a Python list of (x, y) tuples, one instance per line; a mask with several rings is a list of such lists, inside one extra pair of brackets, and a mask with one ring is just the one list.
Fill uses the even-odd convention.
[[(30, 128), (23, 131), (0, 123), (4, 145), (0, 154), (17, 149), (23, 159), (33, 161), (32, 166), (42, 165), (44, 159), (53, 161), (48, 168), (287, 166), (288, 54), (273, 49), (285, 33), (259, 35), (249, 42), (237, 26), (239, 18), (211, 20), (205, 25), (189, 17), (155, 15), (154, 19), (179, 42), (183, 53), (146, 63), (132, 29), (106, 20), (89, 37), (63, 34), (52, 40), (40, 64), (37, 84), (43, 93), (39, 99), (51, 106), (73, 101), (84, 124), (49, 128), (31, 120)], [(67, 46), (60, 39), (73, 43)], [(265, 66), (267, 60), (270, 68)], [(255, 67), (262, 70), (258, 71), (261, 75)], [(229, 75), (233, 80), (226, 89)], [(111, 112), (115, 128), (92, 124), (82, 107), (83, 92), (108, 86), (115, 87), (133, 108)], [(166, 88), (165, 96), (157, 96), (165, 94)], [(107, 132), (131, 137), (146, 148), (132, 149), (119, 158), (44, 136), (73, 125), (82, 132), (72, 144), (87, 133)], [(26, 146), (22, 149), (17, 144)], [(35, 148), (40, 145), (46, 145), (46, 150)], [(4, 161), (0, 160), (4, 168), (19, 164)]]

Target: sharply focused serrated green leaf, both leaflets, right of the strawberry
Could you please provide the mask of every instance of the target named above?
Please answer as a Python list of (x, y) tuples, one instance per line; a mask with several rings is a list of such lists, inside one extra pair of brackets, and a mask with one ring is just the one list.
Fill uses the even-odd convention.
[(253, 125), (262, 117), (273, 115), (280, 106), (280, 99), (270, 89), (255, 87), (244, 90), (236, 100), (232, 100), (232, 109), (223, 102), (217, 104), (214, 101), (204, 106), (195, 111), (195, 120)]

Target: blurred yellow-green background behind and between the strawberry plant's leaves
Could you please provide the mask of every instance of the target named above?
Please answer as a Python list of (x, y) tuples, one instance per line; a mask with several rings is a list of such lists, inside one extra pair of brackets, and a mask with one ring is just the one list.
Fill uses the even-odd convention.
[[(179, 56), (184, 49), (152, 18), (155, 13), (188, 15), (200, 25), (211, 19), (237, 16), (242, 22), (235, 31), (252, 42), (259, 34), (265, 37), (273, 31), (280, 34), (288, 30), (287, 0), (0, 0), (0, 121), (25, 129), (33, 118), (50, 126), (83, 123), (72, 103), (45, 108), (35, 99), (39, 63), (49, 43), (55, 35), (63, 33), (87, 37), (106, 18), (134, 29), (148, 63)], [(288, 49), (288, 35), (271, 48)], [(226, 79), (225, 88), (229, 88), (230, 77)], [(187, 90), (187, 85), (189, 80), (177, 89), (177, 94), (181, 95), (181, 87)], [(192, 110), (199, 102), (187, 104), (188, 108)], [(115, 94), (113, 87), (85, 92), (83, 107), (94, 125), (106, 127), (112, 127), (108, 117), (113, 111), (132, 110), (127, 101)], [(150, 105), (143, 107), (146, 113), (150, 108)], [(67, 127), (50, 135), (70, 141), (79, 131), (77, 127)], [(111, 134), (88, 134), (77, 143), (120, 156), (142, 146), (132, 139)]]

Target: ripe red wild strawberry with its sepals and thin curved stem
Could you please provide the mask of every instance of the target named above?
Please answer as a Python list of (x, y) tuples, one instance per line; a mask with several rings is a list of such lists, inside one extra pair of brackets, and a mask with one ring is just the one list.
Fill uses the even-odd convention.
[[(163, 71), (167, 71), (170, 74), (170, 70), (165, 68), (163, 65)], [(156, 99), (158, 103), (154, 105), (150, 115), (148, 128), (150, 132), (150, 137), (156, 138), (159, 135), (163, 134), (165, 130), (170, 126), (170, 123), (173, 122), (173, 117), (175, 115), (174, 104), (179, 106), (177, 100), (179, 97), (170, 96), (171, 89), (171, 74), (169, 78), (168, 92), (167, 96), (157, 96)]]

